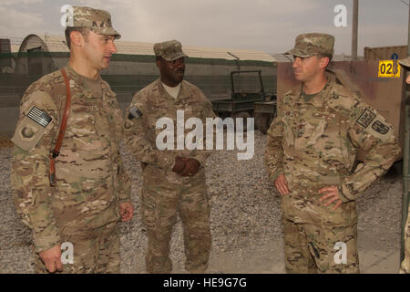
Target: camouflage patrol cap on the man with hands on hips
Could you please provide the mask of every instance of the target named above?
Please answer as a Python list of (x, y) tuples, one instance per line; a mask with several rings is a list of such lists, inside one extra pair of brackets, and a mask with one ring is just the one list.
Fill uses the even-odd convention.
[(333, 55), (334, 36), (327, 34), (302, 34), (296, 36), (294, 47), (285, 54), (311, 57), (317, 54)]

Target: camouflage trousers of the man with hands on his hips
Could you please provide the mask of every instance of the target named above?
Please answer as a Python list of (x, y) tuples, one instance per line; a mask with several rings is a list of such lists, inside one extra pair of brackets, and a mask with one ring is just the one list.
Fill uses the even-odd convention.
[(315, 199), (282, 196), (286, 272), (359, 273), (355, 203), (333, 211)]

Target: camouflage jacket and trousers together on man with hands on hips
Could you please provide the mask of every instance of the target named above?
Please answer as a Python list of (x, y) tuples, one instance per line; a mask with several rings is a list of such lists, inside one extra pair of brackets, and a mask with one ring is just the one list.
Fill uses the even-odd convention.
[[(367, 155), (353, 170), (358, 149)], [(308, 235), (302, 243), (305, 249), (311, 240), (321, 246), (316, 247), (317, 258), (310, 252), (319, 271), (353, 272), (355, 266), (358, 271), (354, 199), (384, 175), (399, 152), (392, 126), (363, 99), (333, 81), (313, 97), (303, 96), (300, 85), (279, 100), (278, 116), (268, 131), (265, 163), (272, 182), (283, 173), (288, 183), (290, 193), (282, 196), (282, 207), (284, 220), (298, 224), (292, 233), (302, 228)], [(325, 207), (319, 203), (323, 194), (318, 190), (330, 185), (339, 187), (343, 201), (336, 211), (333, 204)], [(309, 239), (312, 233), (317, 236)], [(329, 249), (336, 241), (348, 247), (344, 266), (333, 265)], [(292, 245), (292, 239), (285, 243)], [(302, 260), (286, 259), (286, 269), (307, 268), (297, 263)]]

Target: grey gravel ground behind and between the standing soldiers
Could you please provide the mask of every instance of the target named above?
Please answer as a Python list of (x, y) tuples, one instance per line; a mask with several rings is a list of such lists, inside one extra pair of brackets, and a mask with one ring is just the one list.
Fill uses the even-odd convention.
[[(266, 136), (255, 131), (255, 154), (249, 161), (238, 161), (236, 151), (217, 151), (206, 164), (211, 203), (212, 249), (210, 273), (226, 273), (220, 258), (240, 263), (244, 257), (261, 257), (272, 251), (272, 240), (282, 238), (280, 194), (268, 181), (263, 165)], [(0, 273), (33, 273), (30, 230), (22, 224), (10, 193), (11, 148), (0, 148)], [(139, 163), (123, 151), (133, 187), (136, 216), (121, 223), (122, 273), (145, 273), (147, 239), (139, 216), (138, 190), (141, 185)], [(370, 238), (371, 247), (386, 252), (399, 248), (401, 177), (389, 172), (358, 199), (359, 246)], [(175, 272), (183, 273), (185, 260), (181, 224), (175, 226), (171, 242)], [(218, 264), (221, 265), (218, 265)], [(233, 273), (251, 273), (258, 263)], [(212, 267), (211, 267), (212, 266)], [(255, 268), (255, 269), (252, 269)]]

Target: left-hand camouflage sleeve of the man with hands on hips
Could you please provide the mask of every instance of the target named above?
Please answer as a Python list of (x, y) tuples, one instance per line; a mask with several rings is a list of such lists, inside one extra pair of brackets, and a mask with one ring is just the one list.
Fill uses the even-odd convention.
[(268, 141), (265, 150), (265, 165), (273, 182), (283, 173), (283, 124), (279, 110), (280, 108), (278, 108), (278, 115), (272, 121), (268, 130)]

